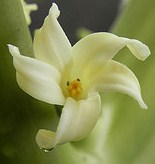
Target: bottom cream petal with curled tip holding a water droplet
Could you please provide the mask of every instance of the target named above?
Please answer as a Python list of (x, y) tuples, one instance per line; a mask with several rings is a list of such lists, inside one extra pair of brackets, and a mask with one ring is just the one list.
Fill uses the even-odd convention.
[(75, 101), (68, 98), (56, 133), (39, 130), (36, 141), (40, 148), (51, 149), (57, 144), (85, 138), (95, 126), (101, 110), (98, 93), (92, 93), (87, 99)]

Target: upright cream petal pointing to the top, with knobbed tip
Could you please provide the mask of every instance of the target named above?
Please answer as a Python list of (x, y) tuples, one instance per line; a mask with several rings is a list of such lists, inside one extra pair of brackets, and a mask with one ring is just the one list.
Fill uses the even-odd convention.
[(60, 11), (53, 3), (49, 15), (34, 37), (35, 58), (62, 70), (71, 60), (71, 45), (57, 21)]

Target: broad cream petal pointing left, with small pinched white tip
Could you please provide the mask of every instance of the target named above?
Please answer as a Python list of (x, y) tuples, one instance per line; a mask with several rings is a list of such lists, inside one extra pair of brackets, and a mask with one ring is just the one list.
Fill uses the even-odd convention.
[(38, 100), (63, 105), (65, 98), (59, 86), (60, 73), (48, 64), (20, 55), (17, 47), (8, 46), (13, 56), (19, 86)]

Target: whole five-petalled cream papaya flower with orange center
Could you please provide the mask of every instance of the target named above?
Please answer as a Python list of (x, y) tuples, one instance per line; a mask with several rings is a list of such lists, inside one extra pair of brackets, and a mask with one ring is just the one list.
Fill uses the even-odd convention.
[(71, 46), (57, 21), (59, 14), (53, 3), (34, 37), (35, 58), (8, 45), (21, 89), (38, 100), (63, 106), (56, 132), (40, 129), (36, 135), (38, 146), (46, 150), (89, 135), (100, 116), (101, 92), (128, 94), (147, 109), (136, 76), (112, 58), (127, 46), (135, 57), (145, 60), (149, 48), (138, 40), (105, 32), (87, 35)]

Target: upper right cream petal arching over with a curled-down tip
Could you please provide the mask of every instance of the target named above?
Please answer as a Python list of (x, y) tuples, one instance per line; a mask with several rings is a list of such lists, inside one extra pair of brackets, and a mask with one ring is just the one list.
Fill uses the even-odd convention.
[(82, 70), (90, 60), (112, 59), (124, 46), (127, 46), (140, 60), (145, 60), (150, 55), (149, 48), (138, 40), (100, 32), (84, 37), (73, 46), (74, 61), (77, 66), (80, 64)]

